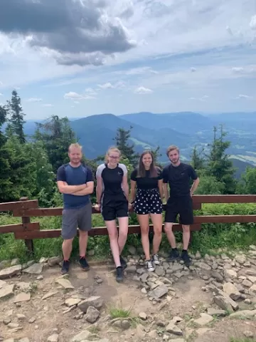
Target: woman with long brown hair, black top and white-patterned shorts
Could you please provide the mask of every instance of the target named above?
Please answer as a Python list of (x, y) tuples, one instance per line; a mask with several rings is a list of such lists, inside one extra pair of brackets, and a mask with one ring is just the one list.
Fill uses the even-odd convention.
[[(159, 246), (162, 237), (163, 176), (154, 163), (151, 151), (144, 151), (139, 158), (139, 166), (131, 175), (131, 204), (142, 231), (142, 247), (146, 257), (146, 269), (154, 271), (159, 262)], [(153, 255), (149, 252), (149, 217), (154, 226)]]

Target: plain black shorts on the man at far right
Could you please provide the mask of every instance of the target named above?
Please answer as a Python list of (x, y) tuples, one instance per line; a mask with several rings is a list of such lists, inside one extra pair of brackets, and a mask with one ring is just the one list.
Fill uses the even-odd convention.
[(175, 223), (179, 214), (179, 223), (193, 224), (193, 200), (191, 196), (170, 197), (166, 204), (164, 222)]

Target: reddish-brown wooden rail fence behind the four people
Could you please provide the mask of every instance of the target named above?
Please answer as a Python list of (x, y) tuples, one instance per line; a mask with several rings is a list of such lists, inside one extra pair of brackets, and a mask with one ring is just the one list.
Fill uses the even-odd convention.
[[(193, 209), (201, 209), (203, 203), (255, 203), (256, 195), (195, 195), (193, 196)], [(165, 209), (165, 208), (164, 208)], [(14, 233), (15, 239), (25, 240), (26, 247), (29, 252), (33, 252), (33, 239), (46, 239), (60, 237), (61, 229), (40, 229), (39, 222), (31, 222), (31, 217), (43, 216), (61, 216), (63, 208), (40, 208), (38, 200), (22, 197), (18, 202), (0, 203), (0, 212), (12, 212), (14, 217), (21, 217), (21, 224), (0, 225), (0, 234)], [(92, 207), (93, 214), (99, 214)], [(255, 215), (201, 215), (194, 217), (194, 224), (191, 225), (191, 232), (201, 230), (203, 223), (249, 223), (256, 222), (256, 205)], [(152, 225), (150, 225), (152, 231)], [(181, 224), (174, 224), (175, 231), (181, 231)], [(139, 225), (129, 226), (129, 234), (138, 234), (140, 232)], [(79, 234), (79, 232), (78, 232)], [(106, 227), (94, 227), (89, 235), (107, 235)]]

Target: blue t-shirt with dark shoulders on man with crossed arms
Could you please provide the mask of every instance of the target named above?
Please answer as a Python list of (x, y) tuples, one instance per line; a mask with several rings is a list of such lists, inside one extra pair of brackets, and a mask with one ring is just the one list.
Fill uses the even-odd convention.
[[(93, 182), (92, 171), (85, 165), (73, 167), (70, 164), (62, 165), (57, 171), (57, 181), (62, 180), (68, 185), (82, 185), (87, 182)], [(65, 209), (75, 209), (83, 207), (90, 202), (90, 195), (75, 196), (63, 194)]]

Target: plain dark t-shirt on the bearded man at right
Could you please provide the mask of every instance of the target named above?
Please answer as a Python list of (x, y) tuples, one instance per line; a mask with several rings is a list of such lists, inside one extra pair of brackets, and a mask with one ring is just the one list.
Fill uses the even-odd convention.
[(198, 175), (191, 165), (181, 162), (178, 166), (167, 165), (163, 170), (164, 183), (169, 183), (170, 197), (190, 195), (190, 181)]

